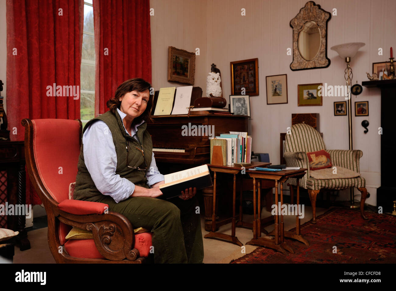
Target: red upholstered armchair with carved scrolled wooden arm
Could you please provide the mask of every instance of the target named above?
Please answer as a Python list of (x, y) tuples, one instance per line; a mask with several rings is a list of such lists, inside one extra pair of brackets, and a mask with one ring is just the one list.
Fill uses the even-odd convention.
[[(142, 263), (151, 233), (135, 234), (124, 215), (108, 205), (69, 200), (76, 181), (82, 143), (80, 120), (22, 120), (30, 181), (47, 212), (48, 244), (57, 263)], [(92, 232), (92, 239), (67, 240), (72, 226)]]

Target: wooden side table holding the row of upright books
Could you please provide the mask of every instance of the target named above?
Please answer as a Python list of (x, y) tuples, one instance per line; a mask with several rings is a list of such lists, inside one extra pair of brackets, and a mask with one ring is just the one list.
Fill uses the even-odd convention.
[[(246, 171), (247, 169), (251, 167), (261, 167), (265, 165), (269, 165), (270, 163), (262, 163), (262, 162), (252, 162), (252, 165), (245, 167)], [(238, 238), (235, 236), (235, 228), (236, 228), (236, 211), (235, 211), (235, 203), (236, 203), (236, 175), (241, 172), (241, 167), (237, 166), (223, 166), (223, 165), (211, 165), (208, 164), (208, 167), (211, 171), (213, 171), (213, 210), (212, 210), (212, 229), (211, 231), (204, 236), (204, 238), (217, 238), (221, 240), (226, 240), (228, 242), (232, 242), (236, 245), (239, 245), (242, 247), (243, 243), (241, 243)], [(216, 222), (216, 173), (228, 173), (233, 175), (233, 187), (232, 187), (232, 217), (228, 219), (224, 219), (222, 221)], [(241, 193), (242, 193), (242, 184), (241, 184)], [(242, 203), (242, 195), (240, 197), (241, 203)], [(238, 226), (247, 226), (242, 222), (242, 209), (240, 207), (240, 214), (239, 218), (241, 221), (239, 221)], [(216, 227), (219, 227), (221, 225), (227, 224), (231, 221), (232, 223), (232, 229), (231, 229), (231, 235), (229, 234), (223, 234), (221, 232), (216, 232)]]

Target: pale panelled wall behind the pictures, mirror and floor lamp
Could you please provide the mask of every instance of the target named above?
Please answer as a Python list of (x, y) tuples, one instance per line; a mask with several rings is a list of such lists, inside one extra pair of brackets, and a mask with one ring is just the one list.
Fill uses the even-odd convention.
[[(372, 72), (372, 63), (386, 61), (389, 48), (396, 49), (396, 2), (394, 0), (322, 0), (316, 1), (332, 15), (327, 26), (328, 68), (291, 71), (293, 56), (286, 55), (292, 46), (290, 20), (305, 5), (305, 0), (151, 0), (155, 16), (151, 17), (152, 83), (158, 89), (183, 86), (167, 81), (168, 46), (187, 51), (200, 48), (196, 56), (195, 84), (205, 92), (206, 76), (211, 63), (222, 72), (223, 96), (230, 95), (230, 62), (259, 59), (260, 95), (250, 98), (251, 135), (255, 152), (268, 152), (273, 164), (279, 161), (279, 133), (291, 125), (292, 113), (319, 113), (320, 131), (328, 149), (348, 149), (348, 117), (334, 116), (333, 102), (343, 97), (324, 97), (323, 106), (297, 106), (297, 85), (327, 83), (345, 85), (346, 63), (331, 46), (346, 42), (364, 42), (352, 58), (352, 83), (367, 81), (366, 72)], [(245, 8), (246, 16), (241, 15)], [(378, 55), (383, 48), (383, 55)], [(267, 105), (265, 76), (287, 74), (288, 103)], [(369, 116), (355, 117), (353, 121), (354, 149), (363, 151), (360, 171), (366, 179), (371, 197), (366, 201), (376, 204), (376, 188), (381, 184), (380, 90), (363, 87), (363, 93), (352, 96), (356, 101), (369, 101)], [(352, 108), (354, 112), (354, 108)], [(364, 134), (362, 120), (370, 122)], [(356, 190), (356, 194), (359, 192)], [(339, 199), (348, 200), (347, 191)]]

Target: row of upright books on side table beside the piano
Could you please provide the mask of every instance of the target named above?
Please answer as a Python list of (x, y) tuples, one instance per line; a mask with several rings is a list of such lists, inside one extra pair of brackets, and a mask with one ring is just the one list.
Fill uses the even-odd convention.
[[(220, 156), (220, 157), (219, 157)], [(230, 131), (210, 139), (210, 163), (233, 165), (250, 163), (251, 136), (247, 132)]]

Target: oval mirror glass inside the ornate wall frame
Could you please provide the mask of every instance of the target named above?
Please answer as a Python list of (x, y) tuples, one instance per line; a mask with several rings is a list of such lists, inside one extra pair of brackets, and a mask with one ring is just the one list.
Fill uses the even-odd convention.
[(307, 61), (312, 60), (320, 49), (320, 41), (320, 29), (316, 22), (305, 23), (298, 36), (298, 49), (301, 56)]

